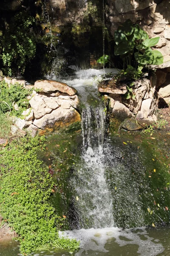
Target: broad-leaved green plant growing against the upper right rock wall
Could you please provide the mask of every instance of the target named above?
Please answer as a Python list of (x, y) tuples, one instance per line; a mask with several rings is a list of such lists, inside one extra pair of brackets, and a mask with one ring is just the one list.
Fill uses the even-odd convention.
[[(147, 32), (133, 25), (131, 20), (122, 23), (114, 34), (115, 48), (114, 54), (120, 55), (124, 60), (125, 66), (131, 66), (131, 59), (134, 53), (136, 64), (153, 64), (159, 65), (163, 63), (163, 55), (158, 50), (152, 50), (150, 47), (155, 46), (159, 37), (149, 38)], [(137, 52), (135, 52), (137, 50)], [(126, 63), (125, 63), (126, 61)], [(137, 67), (137, 65), (135, 66)], [(134, 78), (132, 76), (132, 78)]]

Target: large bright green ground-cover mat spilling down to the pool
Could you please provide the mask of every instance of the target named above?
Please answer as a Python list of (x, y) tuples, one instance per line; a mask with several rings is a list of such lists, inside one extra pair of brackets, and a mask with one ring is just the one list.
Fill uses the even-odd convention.
[(40, 246), (79, 247), (75, 240), (59, 238), (64, 218), (57, 216), (49, 201), (54, 181), (36, 155), (44, 143), (44, 137), (24, 137), (1, 151), (0, 214), (18, 233), (21, 253)]

